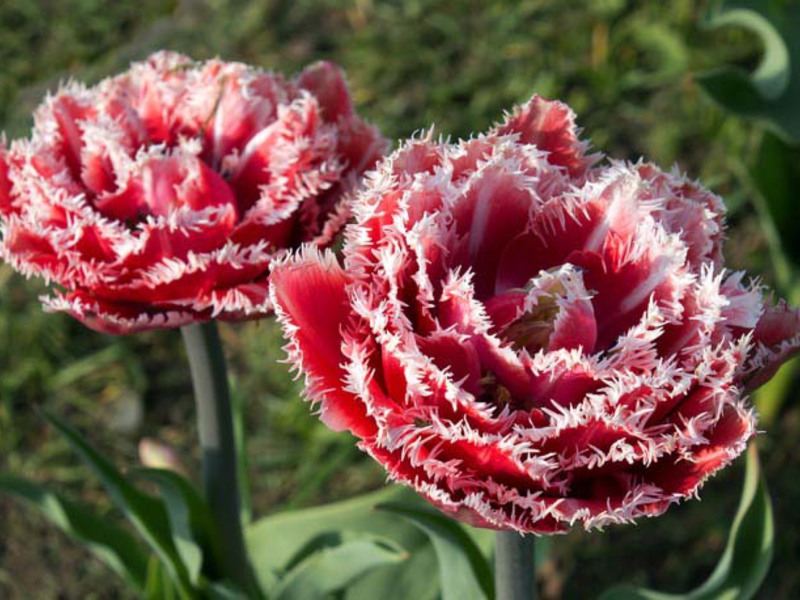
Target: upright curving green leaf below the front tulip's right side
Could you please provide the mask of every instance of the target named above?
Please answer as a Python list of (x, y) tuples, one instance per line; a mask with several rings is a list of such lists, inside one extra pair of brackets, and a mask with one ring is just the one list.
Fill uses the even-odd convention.
[(742, 497), (728, 544), (716, 568), (700, 587), (687, 594), (662, 594), (633, 587), (613, 588), (601, 600), (748, 600), (755, 596), (772, 561), (772, 504), (760, 473), (758, 450), (747, 453)]

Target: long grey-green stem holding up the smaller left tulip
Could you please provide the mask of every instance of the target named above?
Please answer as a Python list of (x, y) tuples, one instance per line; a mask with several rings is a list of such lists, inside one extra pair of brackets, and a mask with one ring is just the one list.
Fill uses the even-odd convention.
[(203, 492), (218, 530), (222, 567), (234, 583), (252, 593), (258, 588), (244, 546), (233, 412), (219, 332), (211, 321), (185, 325), (181, 333), (197, 408)]

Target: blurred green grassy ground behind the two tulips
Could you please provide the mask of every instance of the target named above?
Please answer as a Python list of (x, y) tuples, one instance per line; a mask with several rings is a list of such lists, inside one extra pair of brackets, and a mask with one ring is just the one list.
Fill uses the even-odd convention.
[[(469, 136), (537, 92), (568, 102), (594, 148), (677, 164), (721, 194), (730, 211), (728, 265), (796, 301), (795, 261), (781, 242), (796, 213), (790, 207), (784, 219), (772, 218), (769, 194), (753, 176), (764, 159), (764, 130), (715, 104), (696, 77), (723, 65), (752, 69), (761, 45), (744, 28), (709, 28), (710, 9), (707, 0), (0, 0), (0, 129), (9, 139), (27, 135), (32, 109), (60, 81), (94, 82), (160, 48), (286, 74), (336, 61), (357, 108), (395, 141), (431, 124), (453, 138)], [(44, 425), (38, 409), (45, 407), (122, 467), (137, 464), (137, 446), (150, 437), (171, 444), (196, 472), (189, 375), (175, 358), (183, 358), (179, 333), (97, 334), (43, 314), (42, 291), (40, 282), (0, 267), (0, 470), (112, 511)], [(245, 415), (254, 513), (383, 485), (381, 469), (352, 439), (328, 431), (298, 399), (299, 384), (276, 363), (284, 355), (271, 320), (225, 325), (222, 334)], [(800, 597), (796, 372), (790, 367), (772, 396), (759, 399), (778, 531), (764, 598)], [(586, 598), (622, 580), (690, 589), (722, 552), (742, 474), (741, 464), (728, 469), (706, 485), (701, 502), (662, 518), (549, 540), (544, 597)], [(0, 597), (128, 592), (38, 514), (0, 497)]]

